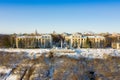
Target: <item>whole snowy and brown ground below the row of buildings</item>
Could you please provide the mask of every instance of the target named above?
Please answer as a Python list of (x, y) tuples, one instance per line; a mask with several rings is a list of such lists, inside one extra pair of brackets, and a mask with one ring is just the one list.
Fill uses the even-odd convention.
[(117, 49), (0, 49), (0, 80), (119, 80)]

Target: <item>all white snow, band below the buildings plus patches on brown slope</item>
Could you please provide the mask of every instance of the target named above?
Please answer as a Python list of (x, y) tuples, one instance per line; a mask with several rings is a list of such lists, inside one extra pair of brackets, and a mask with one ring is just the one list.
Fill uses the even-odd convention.
[[(4, 52), (14, 52), (16, 54), (25, 53), (25, 56), (30, 57), (31, 59), (35, 59), (42, 54), (45, 56), (45, 62), (50, 65), (49, 68), (49, 77), (52, 80), (54, 73), (54, 66), (50, 64), (50, 61), (47, 57), (47, 53), (50, 51), (54, 52), (54, 57), (67, 56), (74, 59), (79, 59), (81, 57), (93, 59), (100, 58), (104, 59), (104, 55), (110, 56), (119, 56), (120, 57), (120, 49), (0, 49), (2, 54)], [(71, 53), (69, 53), (71, 52)], [(1, 53), (0, 53), (1, 54)], [(63, 61), (59, 61), (63, 63)], [(13, 65), (13, 68), (16, 67), (18, 63)], [(29, 64), (28, 64), (29, 65)], [(120, 66), (120, 65), (119, 65)], [(0, 73), (5, 73), (3, 77), (0, 77), (0, 80), (16, 80), (18, 75), (10, 74), (13, 68), (6, 68), (5, 66), (0, 66)]]

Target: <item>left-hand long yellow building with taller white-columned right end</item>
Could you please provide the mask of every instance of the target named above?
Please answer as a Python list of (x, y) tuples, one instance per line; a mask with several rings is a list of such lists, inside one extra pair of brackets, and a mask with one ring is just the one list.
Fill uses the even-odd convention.
[(17, 36), (16, 48), (51, 48), (51, 35)]

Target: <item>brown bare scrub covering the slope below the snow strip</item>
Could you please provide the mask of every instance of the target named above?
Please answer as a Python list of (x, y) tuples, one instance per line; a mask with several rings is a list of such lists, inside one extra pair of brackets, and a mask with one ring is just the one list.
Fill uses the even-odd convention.
[[(27, 69), (24, 80), (35, 80), (36, 77), (41, 80), (47, 80), (49, 79), (49, 63), (52, 63), (54, 67), (54, 80), (86, 80), (93, 76), (90, 74), (90, 71), (95, 73), (95, 80), (120, 79), (120, 57), (106, 55), (104, 60), (89, 60), (87, 58), (76, 60), (66, 56), (51, 57), (50, 54), (51, 52), (48, 57), (45, 56), (46, 54), (43, 54), (36, 59), (23, 59), (14, 72), (21, 72), (22, 70), (24, 71)], [(4, 55), (0, 55), (0, 65), (13, 64), (17, 60), (22, 59), (22, 55), (16, 55), (15, 53), (5, 53)], [(47, 63), (45, 59), (49, 60), (49, 62)], [(31, 66), (29, 64), (31, 64)], [(23, 73), (21, 73), (20, 76), (22, 76), (22, 74)]]

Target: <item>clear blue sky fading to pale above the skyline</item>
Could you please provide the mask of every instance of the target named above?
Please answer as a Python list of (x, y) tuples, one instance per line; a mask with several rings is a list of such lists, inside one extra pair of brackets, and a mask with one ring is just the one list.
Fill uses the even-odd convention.
[(120, 0), (0, 0), (0, 33), (120, 32)]

